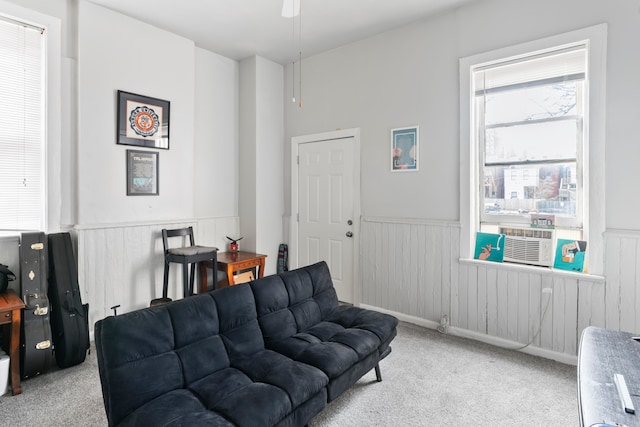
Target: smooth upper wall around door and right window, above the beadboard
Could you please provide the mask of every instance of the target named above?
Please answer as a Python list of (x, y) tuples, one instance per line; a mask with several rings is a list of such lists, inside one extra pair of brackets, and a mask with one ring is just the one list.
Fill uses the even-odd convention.
[[(303, 108), (285, 103), (285, 136), (362, 130), (364, 215), (458, 220), (458, 60), (606, 22), (607, 225), (638, 229), (634, 159), (640, 155), (637, 1), (490, 0), (304, 60)], [(291, 66), (286, 68), (286, 81)], [(291, 99), (285, 84), (285, 99)], [(389, 130), (420, 126), (420, 171), (392, 174)], [(287, 180), (289, 179), (287, 171)], [(287, 192), (287, 211), (289, 193)]]

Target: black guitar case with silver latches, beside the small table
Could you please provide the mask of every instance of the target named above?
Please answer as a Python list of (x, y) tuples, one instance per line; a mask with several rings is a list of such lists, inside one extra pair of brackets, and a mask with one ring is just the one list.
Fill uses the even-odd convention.
[(53, 343), (47, 298), (47, 245), (44, 233), (22, 233), (20, 287), (25, 308), (20, 330), (20, 375), (23, 379), (53, 366)]

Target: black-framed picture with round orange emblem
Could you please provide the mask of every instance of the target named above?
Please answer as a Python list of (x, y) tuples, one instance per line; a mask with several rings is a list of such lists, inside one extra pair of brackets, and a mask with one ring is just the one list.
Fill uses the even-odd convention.
[(118, 91), (118, 144), (169, 149), (170, 102)]

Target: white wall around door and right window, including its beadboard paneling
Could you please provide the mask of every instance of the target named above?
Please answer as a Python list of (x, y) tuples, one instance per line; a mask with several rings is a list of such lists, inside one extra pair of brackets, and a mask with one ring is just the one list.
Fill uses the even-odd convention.
[[(600, 23), (609, 29), (604, 277), (567, 279), (541, 269), (509, 271), (505, 280), (502, 273), (460, 263), (459, 248), (433, 246), (446, 236), (455, 240), (460, 221), (459, 59)], [(363, 303), (427, 325), (447, 314), (454, 329), (474, 338), (521, 342), (540, 320), (540, 294), (532, 284), (547, 281), (554, 299), (547, 329), (534, 342), (539, 352), (562, 360), (575, 356), (589, 324), (637, 330), (637, 40), (637, 1), (487, 0), (304, 60), (303, 107), (285, 103), (287, 140), (361, 129)], [(291, 66), (285, 76), (290, 82)], [(285, 99), (290, 91), (285, 83)], [(392, 174), (389, 131), (409, 125), (420, 126), (420, 171)], [(288, 182), (290, 171), (285, 173)], [(287, 213), (289, 200), (287, 190)], [(416, 235), (425, 240), (414, 240)], [(497, 295), (508, 297), (489, 299)], [(516, 312), (498, 318), (503, 315), (496, 307)]]

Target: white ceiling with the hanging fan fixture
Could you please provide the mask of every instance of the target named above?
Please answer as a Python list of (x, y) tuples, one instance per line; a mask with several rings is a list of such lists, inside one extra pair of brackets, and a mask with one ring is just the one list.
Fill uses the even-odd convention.
[(232, 59), (285, 64), (299, 50), (311, 56), (479, 0), (302, 0), (302, 49), (299, 18), (281, 16), (282, 0), (90, 1)]

